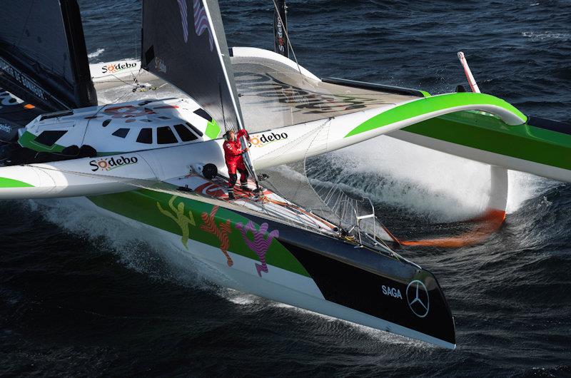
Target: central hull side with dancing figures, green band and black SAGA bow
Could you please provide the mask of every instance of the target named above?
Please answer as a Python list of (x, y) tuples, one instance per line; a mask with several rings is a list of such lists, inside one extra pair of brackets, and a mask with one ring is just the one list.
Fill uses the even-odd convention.
[(228, 287), (455, 347), (453, 317), (437, 280), (398, 255), (153, 190), (89, 202), (124, 224), (128, 218), (146, 225), (161, 242), (220, 272)]

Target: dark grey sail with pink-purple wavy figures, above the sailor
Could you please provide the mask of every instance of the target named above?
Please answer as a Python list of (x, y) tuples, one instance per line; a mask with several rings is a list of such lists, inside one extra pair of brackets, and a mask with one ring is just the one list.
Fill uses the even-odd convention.
[(243, 127), (218, 1), (143, 0), (141, 63), (221, 127)]

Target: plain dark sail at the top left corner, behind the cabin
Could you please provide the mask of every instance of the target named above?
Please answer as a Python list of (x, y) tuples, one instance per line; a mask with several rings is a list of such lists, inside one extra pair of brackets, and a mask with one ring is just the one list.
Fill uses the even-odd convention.
[(97, 105), (76, 0), (3, 0), (0, 85), (46, 110)]

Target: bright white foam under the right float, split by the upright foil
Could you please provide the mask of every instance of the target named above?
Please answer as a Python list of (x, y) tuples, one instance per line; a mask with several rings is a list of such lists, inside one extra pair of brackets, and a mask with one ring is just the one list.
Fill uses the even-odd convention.
[[(482, 213), (490, 193), (490, 166), (380, 136), (328, 155), (337, 178), (375, 202), (454, 222)], [(324, 167), (324, 170), (326, 168)], [(555, 185), (535, 175), (509, 172), (507, 212)]]

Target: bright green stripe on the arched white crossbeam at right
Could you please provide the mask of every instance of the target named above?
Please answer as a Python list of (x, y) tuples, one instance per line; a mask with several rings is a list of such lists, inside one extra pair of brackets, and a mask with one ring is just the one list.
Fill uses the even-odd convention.
[(403, 105), (395, 106), (388, 111), (368, 119), (361, 123), (359, 126), (350, 131), (345, 138), (355, 136), (365, 131), (375, 130), (383, 126), (405, 121), (416, 116), (423, 114), (433, 113), (435, 111), (442, 111), (450, 108), (457, 108), (458, 106), (470, 105), (493, 105), (504, 108), (506, 111), (513, 113), (518, 118), (521, 118), (521, 123), (525, 123), (527, 117), (514, 106), (503, 101), (501, 98), (490, 96), (484, 93), (448, 93), (440, 96), (430, 96), (426, 98), (419, 98), (415, 101), (404, 103)]

